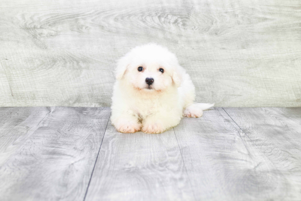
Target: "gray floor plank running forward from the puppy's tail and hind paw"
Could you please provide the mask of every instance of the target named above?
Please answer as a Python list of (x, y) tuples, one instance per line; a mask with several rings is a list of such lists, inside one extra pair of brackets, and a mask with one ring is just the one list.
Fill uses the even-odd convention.
[(291, 182), (221, 108), (183, 118), (174, 130), (196, 200), (297, 198), (289, 195)]

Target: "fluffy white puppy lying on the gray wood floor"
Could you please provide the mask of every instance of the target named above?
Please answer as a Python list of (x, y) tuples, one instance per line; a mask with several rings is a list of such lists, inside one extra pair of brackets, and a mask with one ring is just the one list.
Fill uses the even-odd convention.
[(193, 103), (195, 90), (178, 59), (156, 44), (138, 46), (118, 62), (111, 122), (119, 132), (161, 133), (183, 116), (201, 117), (214, 104)]

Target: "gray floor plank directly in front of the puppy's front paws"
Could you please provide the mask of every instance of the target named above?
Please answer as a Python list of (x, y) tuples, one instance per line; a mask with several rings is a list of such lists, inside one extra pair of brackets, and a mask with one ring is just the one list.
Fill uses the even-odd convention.
[(109, 121), (85, 200), (194, 200), (174, 131), (124, 134)]

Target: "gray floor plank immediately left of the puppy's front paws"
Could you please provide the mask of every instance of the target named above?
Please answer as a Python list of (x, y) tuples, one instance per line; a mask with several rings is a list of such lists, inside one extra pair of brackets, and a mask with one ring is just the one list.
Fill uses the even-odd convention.
[[(0, 167), (1, 199), (82, 201), (108, 123), (110, 108), (40, 109), (47, 109), (48, 114), (41, 115), (43, 119), (35, 131), (22, 138), (23, 142), (17, 142), (22, 143), (18, 148), (9, 149), (15, 146), (13, 142), (4, 150), (9, 149), (12, 153), (5, 153), (10, 156)], [(17, 122), (23, 121), (28, 109), (17, 110), (20, 111), (19, 115), (11, 114), (13, 118), (10, 123), (17, 127), (12, 131), (23, 132), (24, 129), (18, 129), (22, 125)], [(34, 114), (35, 109), (29, 110), (33, 115), (38, 115)]]

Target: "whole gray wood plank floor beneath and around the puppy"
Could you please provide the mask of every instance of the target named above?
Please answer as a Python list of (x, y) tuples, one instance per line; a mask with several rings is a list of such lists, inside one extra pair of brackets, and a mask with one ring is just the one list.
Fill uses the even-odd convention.
[(0, 108), (1, 200), (301, 200), (301, 108), (213, 108), (162, 134), (109, 108)]

